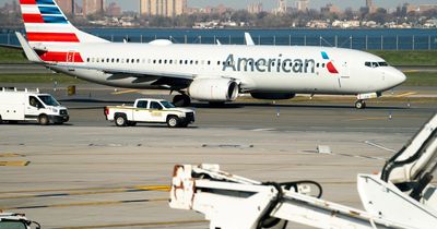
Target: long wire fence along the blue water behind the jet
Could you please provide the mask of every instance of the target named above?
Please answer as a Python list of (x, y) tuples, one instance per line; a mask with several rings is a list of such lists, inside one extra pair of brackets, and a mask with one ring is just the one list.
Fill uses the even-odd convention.
[[(98, 35), (97, 35), (98, 36)], [(105, 35), (104, 39), (122, 43), (150, 43), (155, 39), (170, 39), (175, 44), (216, 44), (224, 45), (245, 44), (241, 36), (128, 36)], [(253, 36), (257, 45), (274, 46), (323, 46), (351, 48), (359, 50), (437, 50), (437, 36)], [(17, 46), (19, 40), (14, 34), (0, 34), (0, 44)]]

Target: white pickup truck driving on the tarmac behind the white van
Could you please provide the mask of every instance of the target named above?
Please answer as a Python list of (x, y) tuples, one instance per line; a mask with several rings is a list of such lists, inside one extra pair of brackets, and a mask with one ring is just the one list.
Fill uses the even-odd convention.
[(163, 99), (140, 98), (133, 107), (105, 107), (105, 117), (117, 126), (133, 126), (139, 122), (167, 123), (169, 128), (186, 128), (194, 122), (194, 111), (188, 108), (176, 108)]

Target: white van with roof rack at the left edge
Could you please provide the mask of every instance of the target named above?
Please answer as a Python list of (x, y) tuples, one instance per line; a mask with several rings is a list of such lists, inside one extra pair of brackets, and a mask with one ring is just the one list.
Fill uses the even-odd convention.
[(70, 119), (66, 107), (49, 94), (36, 91), (0, 88), (0, 123), (37, 121), (39, 124), (62, 124)]

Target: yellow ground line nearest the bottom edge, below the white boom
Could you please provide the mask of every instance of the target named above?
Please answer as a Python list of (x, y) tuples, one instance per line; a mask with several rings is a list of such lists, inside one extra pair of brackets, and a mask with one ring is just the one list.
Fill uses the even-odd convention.
[(147, 227), (147, 226), (175, 226), (175, 225), (191, 225), (203, 224), (206, 220), (184, 220), (184, 221), (153, 221), (153, 222), (135, 222), (135, 224), (116, 224), (116, 225), (94, 225), (81, 227), (64, 227), (55, 229), (92, 229), (92, 228), (130, 228), (130, 227)]

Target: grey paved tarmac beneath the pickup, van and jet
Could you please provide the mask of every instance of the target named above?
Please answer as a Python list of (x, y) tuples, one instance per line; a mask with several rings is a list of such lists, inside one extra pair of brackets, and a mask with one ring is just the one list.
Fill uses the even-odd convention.
[[(436, 103), (378, 100), (356, 110), (334, 98), (194, 103), (197, 121), (187, 129), (117, 128), (104, 106), (169, 96), (93, 85), (67, 96), (64, 85), (32, 86), (70, 108), (71, 121), (0, 125), (0, 209), (25, 213), (43, 228), (208, 228), (202, 215), (168, 207), (178, 164), (218, 164), (260, 181), (315, 180), (324, 200), (362, 208), (357, 173), (378, 172), (437, 111)], [(318, 145), (332, 154), (318, 154)]]

